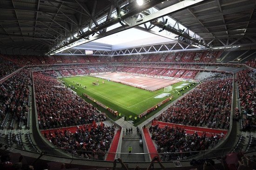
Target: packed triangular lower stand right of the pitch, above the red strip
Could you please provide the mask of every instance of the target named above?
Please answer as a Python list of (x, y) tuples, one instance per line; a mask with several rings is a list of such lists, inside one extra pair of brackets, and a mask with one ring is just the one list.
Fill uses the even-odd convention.
[[(205, 81), (164, 111), (158, 120), (192, 126), (229, 128), (232, 79)], [(213, 102), (214, 100), (214, 102)]]

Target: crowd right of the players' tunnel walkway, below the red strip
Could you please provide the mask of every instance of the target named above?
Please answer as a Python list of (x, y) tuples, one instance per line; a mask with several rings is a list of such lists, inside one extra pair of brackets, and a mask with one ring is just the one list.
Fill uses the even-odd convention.
[(187, 134), (186, 131), (180, 127), (165, 126), (164, 128), (160, 128), (158, 124), (150, 126), (148, 130), (152, 134), (151, 138), (155, 140), (157, 144), (158, 153), (180, 153), (161, 154), (163, 161), (182, 159), (199, 153), (192, 151), (211, 149), (221, 138), (218, 134), (212, 134), (211, 137), (206, 137), (205, 132), (203, 132), (202, 136), (199, 136), (196, 132)]

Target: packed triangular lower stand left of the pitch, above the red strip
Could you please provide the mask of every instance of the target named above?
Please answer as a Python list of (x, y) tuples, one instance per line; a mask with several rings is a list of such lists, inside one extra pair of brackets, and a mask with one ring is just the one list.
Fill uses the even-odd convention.
[(62, 86), (56, 79), (42, 73), (33, 75), (40, 129), (106, 120), (105, 113), (97, 111), (92, 105)]

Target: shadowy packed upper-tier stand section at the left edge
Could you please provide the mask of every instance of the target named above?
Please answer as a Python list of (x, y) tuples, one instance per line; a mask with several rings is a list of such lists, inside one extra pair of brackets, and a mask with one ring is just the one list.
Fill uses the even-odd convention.
[(28, 98), (31, 80), (27, 69), (22, 69), (0, 85), (1, 128), (20, 129), (27, 125)]

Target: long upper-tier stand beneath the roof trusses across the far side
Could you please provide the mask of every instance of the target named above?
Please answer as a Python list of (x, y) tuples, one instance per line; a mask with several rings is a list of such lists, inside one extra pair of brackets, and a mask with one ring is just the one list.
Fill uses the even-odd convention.
[[(13, 62), (18, 66), (44, 65), (44, 64), (72, 64), (72, 63), (109, 63), (109, 62), (182, 62), (182, 63), (214, 63), (222, 51), (214, 52), (176, 52), (168, 54), (142, 54), (130, 56), (24, 56), (24, 55), (1, 55), (2, 58)], [(194, 57), (195, 56), (195, 57)]]

